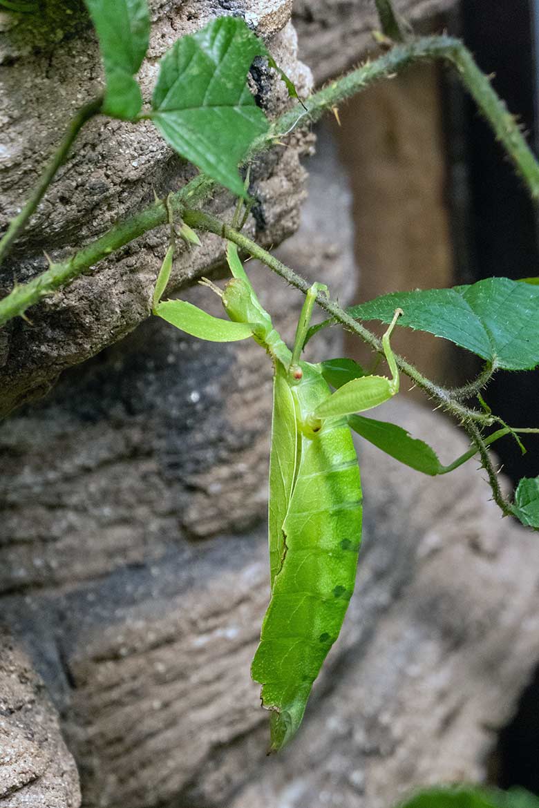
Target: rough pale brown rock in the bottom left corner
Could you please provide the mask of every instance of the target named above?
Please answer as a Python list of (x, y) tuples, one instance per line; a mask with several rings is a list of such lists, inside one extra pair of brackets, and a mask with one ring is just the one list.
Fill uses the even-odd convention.
[(0, 628), (0, 806), (78, 808), (73, 757), (26, 654)]

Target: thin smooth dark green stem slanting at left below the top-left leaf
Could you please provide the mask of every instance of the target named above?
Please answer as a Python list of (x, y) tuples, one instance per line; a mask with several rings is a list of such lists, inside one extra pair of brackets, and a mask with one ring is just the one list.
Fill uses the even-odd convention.
[(75, 139), (78, 137), (78, 133), (87, 121), (99, 113), (102, 105), (103, 98), (99, 97), (94, 99), (90, 103), (85, 104), (84, 107), (81, 107), (73, 120), (71, 120), (61, 144), (53, 154), (53, 158), (48, 163), (48, 166), (40, 176), (39, 182), (32, 191), (32, 196), (15, 219), (11, 220), (9, 227), (6, 229), (6, 233), (2, 236), (2, 240), (0, 240), (0, 263), (2, 263), (11, 245), (15, 241), (15, 238), (23, 232), (28, 219), (32, 216), (32, 213), (35, 212), (38, 204), (40, 204), (48, 186), (53, 182), (54, 175), (69, 154), (69, 149), (71, 149)]

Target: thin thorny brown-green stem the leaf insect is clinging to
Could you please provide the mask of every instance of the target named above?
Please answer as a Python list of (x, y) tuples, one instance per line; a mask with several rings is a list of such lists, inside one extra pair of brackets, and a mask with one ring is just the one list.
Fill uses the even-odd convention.
[[(259, 259), (259, 261), (266, 264), (276, 275), (284, 278), (291, 286), (296, 287), (304, 294), (310, 292), (311, 285), (304, 278), (297, 275), (293, 269), (276, 259), (256, 242), (251, 241), (250, 238), (247, 238), (242, 233), (238, 233), (237, 230), (225, 224), (225, 222), (220, 221), (208, 213), (188, 208), (183, 210), (182, 217), (183, 221), (186, 221), (191, 227), (206, 230), (208, 233), (214, 233), (222, 238), (229, 239), (229, 241), (234, 242), (234, 244), (238, 245), (242, 250), (252, 255), (253, 258)], [(340, 322), (347, 330), (358, 335), (360, 339), (372, 347), (373, 350), (383, 354), (381, 339), (378, 339), (372, 331), (369, 331), (361, 325), (360, 322), (350, 317), (350, 315), (347, 314), (344, 309), (341, 309), (335, 301), (332, 301), (330, 297), (326, 297), (325, 292), (317, 293), (316, 302), (321, 309), (331, 314), (331, 317), (336, 322)], [(491, 426), (492, 423), (495, 423), (495, 417), (463, 406), (461, 402), (453, 397), (451, 390), (434, 384), (430, 379), (424, 377), (414, 365), (404, 360), (402, 356), (394, 354), (394, 359), (398, 368), (402, 370), (403, 373), (406, 373), (406, 376), (411, 378), (411, 380), (415, 382), (415, 385), (423, 390), (423, 393), (426, 393), (429, 398), (438, 402), (438, 405), (443, 407), (444, 410), (447, 410), (451, 415), (460, 420), (462, 427), (468, 433), (468, 436), (470, 436), (470, 440), (474, 444), (476, 452), (478, 452), (481, 457), (482, 465), (488, 474), (495, 503), (505, 516), (510, 515), (512, 513), (511, 503), (507, 502), (503, 497), (496, 469), (492, 464), (486, 448), (486, 441), (489, 443), (491, 441), (483, 439), (481, 431), (478, 428), (478, 424), (485, 427)]]

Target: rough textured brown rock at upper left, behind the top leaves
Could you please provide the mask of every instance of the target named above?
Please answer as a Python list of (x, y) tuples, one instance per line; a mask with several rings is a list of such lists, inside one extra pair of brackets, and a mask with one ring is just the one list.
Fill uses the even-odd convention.
[[(65, 6), (73, 6), (72, 14)], [(100, 88), (99, 51), (77, 2), (49, 0), (45, 25), (32, 27), (27, 15), (15, 24), (0, 12), (0, 229), (4, 229), (36, 182), (40, 166), (57, 143), (74, 111)], [(141, 69), (145, 98), (158, 73), (158, 59), (175, 40), (224, 14), (240, 14), (267, 41), (301, 95), (311, 86), (310, 70), (297, 61), (297, 39), (289, 23), (290, 0), (154, 0), (152, 37)], [(59, 15), (58, 6), (62, 14)], [(255, 89), (268, 115), (289, 103), (283, 82), (267, 69)], [(61, 91), (59, 91), (61, 88)], [(297, 228), (303, 198), (301, 154), (310, 137), (293, 136), (288, 148), (276, 147), (253, 167), (251, 192), (258, 200), (247, 232), (260, 242), (278, 244)], [(53, 260), (103, 234), (120, 217), (166, 196), (196, 172), (172, 153), (149, 122), (124, 124), (103, 117), (82, 130), (73, 154), (40, 205), (27, 233), (0, 271), (0, 290), (14, 278), (27, 280)], [(229, 194), (217, 194), (213, 209), (225, 215)], [(0, 415), (45, 392), (64, 368), (93, 356), (148, 317), (158, 268), (166, 251), (166, 228), (138, 238), (32, 309), (32, 323), (11, 321), (0, 339)], [(222, 262), (219, 239), (204, 250), (179, 250), (171, 288), (179, 288)]]

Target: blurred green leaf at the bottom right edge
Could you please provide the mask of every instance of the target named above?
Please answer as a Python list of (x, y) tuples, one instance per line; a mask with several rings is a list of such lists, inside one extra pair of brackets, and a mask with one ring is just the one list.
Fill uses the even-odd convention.
[(471, 786), (426, 789), (398, 808), (539, 808), (539, 799), (524, 789), (477, 789)]

